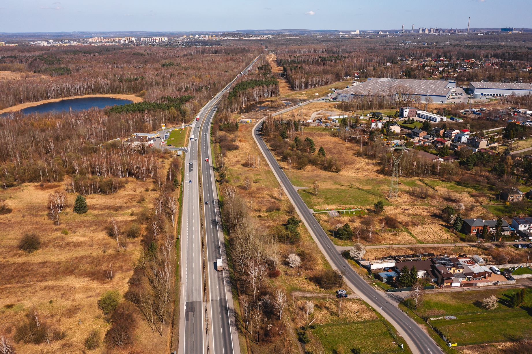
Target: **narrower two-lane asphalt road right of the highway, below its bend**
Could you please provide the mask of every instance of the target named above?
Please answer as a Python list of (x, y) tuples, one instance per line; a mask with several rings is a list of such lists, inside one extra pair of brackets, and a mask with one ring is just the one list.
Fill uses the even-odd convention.
[(303, 199), (297, 193), (292, 183), (288, 180), (284, 171), (277, 163), (275, 157), (260, 136), (260, 127), (262, 121), (257, 123), (253, 129), (253, 137), (257, 145), (262, 151), (262, 154), (268, 161), (277, 180), (283, 186), (283, 189), (297, 210), (297, 214), (309, 230), (313, 239), (318, 243), (321, 251), (329, 261), (332, 267), (344, 273), (344, 280), (351, 288), (359, 294), (359, 296), (370, 306), (379, 311), (403, 336), (408, 343), (412, 352), (421, 354), (441, 354), (443, 351), (438, 347), (430, 336), (421, 329), (408, 315), (396, 307), (386, 295), (380, 291), (373, 289), (367, 282), (365, 282), (358, 274), (353, 271), (353, 268), (346, 262), (346, 260), (336, 250), (335, 245), (329, 239), (325, 231), (321, 228), (314, 215), (305, 205)]

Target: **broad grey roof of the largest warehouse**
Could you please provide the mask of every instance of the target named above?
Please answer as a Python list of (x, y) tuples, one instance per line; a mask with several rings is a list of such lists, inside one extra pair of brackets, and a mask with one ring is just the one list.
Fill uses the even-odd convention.
[[(369, 95), (369, 94), (389, 94), (395, 95), (398, 86), (406, 87), (401, 90), (403, 94), (420, 96), (447, 96), (451, 87), (456, 84), (454, 81), (444, 80), (414, 80), (414, 79), (368, 79), (346, 89), (338, 91), (338, 94), (346, 95)], [(410, 92), (409, 92), (410, 91)]]

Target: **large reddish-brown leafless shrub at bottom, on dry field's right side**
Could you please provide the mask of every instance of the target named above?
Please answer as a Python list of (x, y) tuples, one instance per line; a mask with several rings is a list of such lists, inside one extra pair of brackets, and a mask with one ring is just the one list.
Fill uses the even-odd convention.
[(110, 347), (123, 348), (125, 345), (132, 344), (133, 331), (135, 330), (136, 320), (133, 308), (130, 304), (120, 304), (111, 315), (113, 325), (105, 334), (105, 341)]

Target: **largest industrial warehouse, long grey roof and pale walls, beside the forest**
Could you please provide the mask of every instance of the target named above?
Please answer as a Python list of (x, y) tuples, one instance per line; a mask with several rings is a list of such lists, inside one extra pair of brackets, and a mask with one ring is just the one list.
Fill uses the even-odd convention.
[(421, 102), (430, 97), (433, 102), (446, 102), (451, 95), (452, 88), (456, 87), (455, 81), (445, 80), (414, 80), (414, 79), (381, 79), (369, 78), (368, 81), (358, 83), (346, 89), (337, 91), (337, 100), (353, 101), (363, 96), (402, 96), (413, 98), (419, 96)]

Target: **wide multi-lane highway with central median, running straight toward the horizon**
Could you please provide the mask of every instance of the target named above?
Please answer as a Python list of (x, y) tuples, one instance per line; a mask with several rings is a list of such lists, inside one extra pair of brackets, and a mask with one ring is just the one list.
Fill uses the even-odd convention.
[[(245, 73), (259, 58), (243, 70)], [(214, 263), (221, 258), (227, 265), (218, 193), (215, 186), (211, 123), (223, 95), (231, 89), (239, 74), (203, 106), (190, 125), (188, 154), (185, 155), (185, 180), (181, 227), (181, 316), (179, 353), (240, 354), (229, 273), (216, 271)], [(209, 162), (206, 162), (206, 158)], [(201, 181), (198, 172), (201, 168)], [(192, 181), (192, 183), (189, 183)], [(201, 182), (201, 183), (200, 183)], [(205, 204), (208, 201), (209, 204)], [(202, 226), (205, 252), (202, 249)], [(203, 272), (203, 255), (207, 267)], [(204, 275), (208, 278), (205, 292)], [(208, 302), (208, 304), (207, 304)]]

